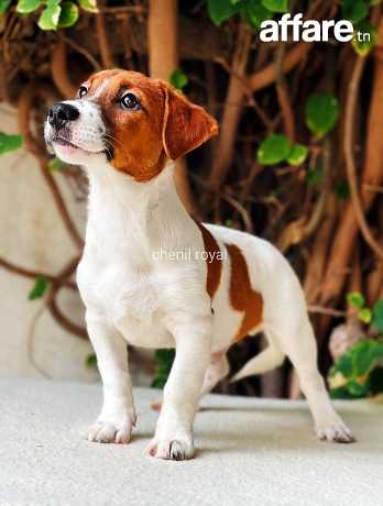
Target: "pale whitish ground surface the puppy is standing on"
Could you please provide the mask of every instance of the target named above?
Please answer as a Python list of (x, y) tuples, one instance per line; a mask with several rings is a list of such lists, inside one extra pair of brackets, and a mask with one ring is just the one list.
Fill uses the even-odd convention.
[(99, 385), (0, 381), (0, 506), (383, 504), (383, 406), (346, 403), (359, 442), (317, 442), (305, 403), (210, 396), (196, 420), (196, 459), (144, 457), (155, 391), (136, 389), (129, 446), (84, 439)]

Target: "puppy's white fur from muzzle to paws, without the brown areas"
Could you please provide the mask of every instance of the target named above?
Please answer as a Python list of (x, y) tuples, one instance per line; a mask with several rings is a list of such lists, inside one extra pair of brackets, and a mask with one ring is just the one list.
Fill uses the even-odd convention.
[[(89, 102), (86, 107), (89, 112), (92, 106)], [(91, 132), (100, 118), (96, 114), (92, 121)], [(78, 138), (86, 139), (85, 123), (76, 123), (77, 131), (83, 132)], [(86, 142), (83, 147), (87, 147)], [(61, 156), (61, 148), (55, 150)], [(225, 353), (243, 317), (230, 305), (230, 258), (226, 255), (222, 261), (220, 285), (211, 301), (206, 292), (207, 264), (200, 258), (201, 233), (178, 199), (173, 164), (156, 178), (136, 183), (114, 170), (105, 154), (75, 153), (66, 161), (68, 157), (85, 164), (90, 182), (86, 245), (77, 280), (105, 402), (89, 439), (129, 441), (135, 413), (127, 343), (153, 349), (175, 346), (176, 359), (149, 453), (164, 459), (189, 458), (200, 394), (228, 373)], [(222, 254), (227, 253), (225, 244), (241, 249), (252, 287), (264, 300), (263, 324), (253, 333), (265, 332), (273, 350), (269, 355), (273, 356), (263, 365), (249, 363), (242, 376), (275, 366), (287, 355), (298, 372), (318, 436), (350, 441), (351, 432), (333, 411), (318, 373), (304, 295), (286, 260), (261, 239), (222, 227), (207, 228)], [(175, 260), (158, 256), (160, 251), (190, 254)]]

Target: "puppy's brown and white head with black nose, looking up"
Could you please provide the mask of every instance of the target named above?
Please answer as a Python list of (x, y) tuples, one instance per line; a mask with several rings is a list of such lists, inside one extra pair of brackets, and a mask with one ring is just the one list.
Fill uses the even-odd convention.
[(107, 161), (139, 182), (217, 132), (214, 118), (166, 82), (119, 69), (90, 76), (75, 100), (51, 108), (44, 129), (48, 151), (64, 162)]

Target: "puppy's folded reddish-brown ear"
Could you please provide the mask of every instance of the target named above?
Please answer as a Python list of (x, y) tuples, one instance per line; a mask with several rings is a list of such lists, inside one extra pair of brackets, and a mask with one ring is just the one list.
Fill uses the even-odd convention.
[(165, 95), (162, 142), (166, 156), (179, 158), (218, 133), (217, 121), (205, 109), (162, 82)]

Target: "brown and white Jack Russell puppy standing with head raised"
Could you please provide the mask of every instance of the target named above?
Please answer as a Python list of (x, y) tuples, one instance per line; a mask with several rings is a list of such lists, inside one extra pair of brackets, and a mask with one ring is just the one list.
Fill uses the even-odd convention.
[(317, 369), (305, 297), (270, 243), (194, 221), (174, 184), (172, 161), (218, 133), (217, 122), (167, 84), (105, 70), (75, 100), (53, 106), (48, 150), (85, 167), (89, 217), (77, 282), (103, 383), (103, 406), (88, 439), (128, 443), (135, 424), (127, 343), (175, 348), (150, 455), (194, 454), (201, 395), (229, 373), (227, 350), (263, 331), (269, 348), (233, 380), (281, 365), (287, 355), (319, 439), (351, 442)]

